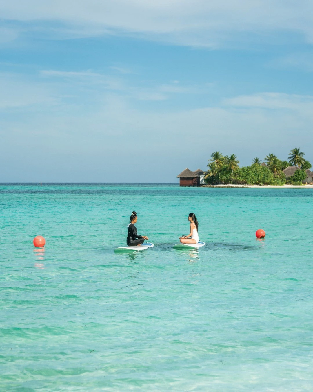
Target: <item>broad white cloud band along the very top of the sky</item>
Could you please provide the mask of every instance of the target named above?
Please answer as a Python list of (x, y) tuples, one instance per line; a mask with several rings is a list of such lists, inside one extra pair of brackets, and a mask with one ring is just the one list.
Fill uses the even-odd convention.
[[(36, 22), (66, 36), (128, 34), (216, 47), (256, 36), (273, 41), (275, 32), (291, 32), (313, 42), (313, 3), (307, 0), (11, 0), (1, 8), (3, 20)], [(63, 27), (53, 31), (47, 21)]]

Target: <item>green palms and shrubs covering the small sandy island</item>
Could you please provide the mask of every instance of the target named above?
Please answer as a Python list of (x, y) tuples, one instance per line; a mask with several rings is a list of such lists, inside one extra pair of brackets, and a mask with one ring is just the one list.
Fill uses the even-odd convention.
[[(216, 151), (208, 160), (208, 170), (205, 173), (205, 181), (209, 184), (250, 184), (250, 185), (285, 185), (286, 176), (282, 172), (291, 163), (301, 166), (301, 169), (310, 169), (311, 164), (304, 160), (304, 152), (300, 148), (290, 151), (288, 161), (281, 161), (274, 154), (268, 154), (264, 163), (259, 158), (254, 158), (250, 166), (239, 167), (239, 161), (235, 154), (223, 156)], [(300, 183), (306, 178), (304, 170), (297, 170), (291, 178), (292, 183)]]

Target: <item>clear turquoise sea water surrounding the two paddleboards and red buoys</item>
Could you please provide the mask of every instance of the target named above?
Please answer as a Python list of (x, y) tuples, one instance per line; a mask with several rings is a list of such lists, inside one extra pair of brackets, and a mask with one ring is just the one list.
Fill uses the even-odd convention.
[[(312, 201), (311, 189), (0, 185), (0, 390), (312, 390)], [(155, 247), (116, 254), (133, 210)], [(189, 212), (207, 245), (175, 250)]]

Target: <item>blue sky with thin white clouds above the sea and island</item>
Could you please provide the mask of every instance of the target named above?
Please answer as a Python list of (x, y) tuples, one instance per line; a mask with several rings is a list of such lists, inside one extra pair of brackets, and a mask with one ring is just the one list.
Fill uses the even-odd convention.
[(313, 163), (313, 2), (0, 0), (0, 182)]

